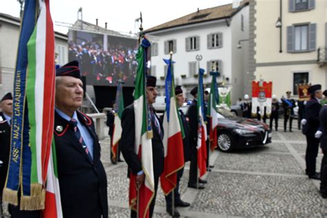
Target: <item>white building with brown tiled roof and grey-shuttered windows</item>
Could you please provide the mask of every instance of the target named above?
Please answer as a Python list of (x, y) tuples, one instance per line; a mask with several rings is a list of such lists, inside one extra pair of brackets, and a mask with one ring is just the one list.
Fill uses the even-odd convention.
[[(232, 102), (242, 97), (248, 82), (248, 17), (248, 1), (235, 1), (146, 30), (152, 42), (151, 74), (157, 77), (160, 95), (164, 95), (167, 72), (162, 59), (169, 59), (172, 51), (175, 83), (184, 88), (186, 97), (191, 98), (189, 92), (197, 86), (199, 66), (206, 70), (205, 86), (210, 87), (214, 68), (220, 73), (219, 86), (232, 87)], [(197, 61), (200, 55), (202, 59)]]

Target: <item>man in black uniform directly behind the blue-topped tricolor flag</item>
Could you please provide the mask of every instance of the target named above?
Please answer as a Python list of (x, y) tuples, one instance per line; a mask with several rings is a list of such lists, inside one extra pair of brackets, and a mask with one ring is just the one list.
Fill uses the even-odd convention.
[[(181, 86), (176, 86), (175, 95), (176, 95), (176, 100), (177, 100), (177, 106), (180, 108), (181, 106), (183, 106), (183, 103), (185, 100)], [(183, 123), (184, 134), (185, 134), (185, 137), (183, 139), (184, 161), (187, 162), (187, 161), (190, 161), (190, 139), (189, 139), (190, 130), (188, 127), (188, 123), (186, 121), (186, 117), (182, 110), (179, 110), (179, 115), (181, 116), (181, 122)], [(176, 207), (190, 206), (189, 203), (182, 201), (181, 196), (179, 195), (179, 181), (181, 180), (181, 177), (183, 176), (183, 172), (184, 172), (184, 168), (181, 168), (181, 170), (179, 170), (177, 172), (177, 185), (174, 190)], [(172, 192), (170, 192), (170, 194), (166, 196), (166, 208), (167, 208), (167, 212), (172, 216)], [(179, 212), (177, 210), (174, 211), (174, 217), (179, 217)]]

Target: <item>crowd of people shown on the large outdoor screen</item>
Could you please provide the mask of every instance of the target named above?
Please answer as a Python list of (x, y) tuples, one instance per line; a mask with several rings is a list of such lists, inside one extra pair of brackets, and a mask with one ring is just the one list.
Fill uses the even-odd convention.
[(106, 49), (95, 42), (70, 42), (68, 59), (79, 61), (82, 75), (90, 84), (115, 85), (122, 79), (131, 86), (137, 70), (136, 53), (136, 48), (121, 43)]

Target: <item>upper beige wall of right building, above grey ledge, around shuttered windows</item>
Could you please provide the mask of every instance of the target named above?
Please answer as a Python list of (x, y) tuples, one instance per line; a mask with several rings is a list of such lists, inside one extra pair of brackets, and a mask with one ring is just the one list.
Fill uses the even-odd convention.
[(325, 23), (327, 21), (327, 1), (316, 0), (315, 9), (304, 12), (288, 12), (288, 1), (282, 1), (282, 50), (279, 53), (279, 28), (275, 27), (279, 17), (278, 0), (257, 0), (255, 14), (257, 35), (255, 59), (257, 63), (279, 61), (302, 61), (317, 59), (317, 51), (305, 53), (287, 52), (287, 26), (297, 23), (317, 23), (317, 48), (325, 46)]

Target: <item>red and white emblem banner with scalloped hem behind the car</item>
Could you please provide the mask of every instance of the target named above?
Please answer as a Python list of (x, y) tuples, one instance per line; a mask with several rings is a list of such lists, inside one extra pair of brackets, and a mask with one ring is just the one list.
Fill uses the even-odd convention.
[(271, 114), (272, 93), (273, 82), (252, 81), (252, 116), (257, 115), (258, 107), (261, 117), (264, 117), (265, 108), (266, 115)]

